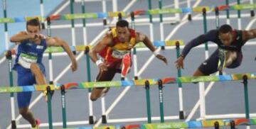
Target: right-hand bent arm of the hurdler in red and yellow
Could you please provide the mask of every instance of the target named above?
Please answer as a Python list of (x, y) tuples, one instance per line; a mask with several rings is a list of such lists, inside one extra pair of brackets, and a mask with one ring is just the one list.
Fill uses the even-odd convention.
[(137, 43), (139, 42), (143, 42), (144, 45), (146, 45), (146, 47), (149, 48), (149, 50), (151, 50), (151, 52), (154, 53), (154, 55), (159, 58), (159, 60), (162, 60), (164, 63), (168, 64), (166, 57), (164, 57), (163, 55), (160, 55), (159, 52), (156, 52), (156, 48), (154, 47), (154, 45), (152, 45), (151, 41), (149, 40), (149, 38), (142, 34), (142, 33), (136, 33), (136, 41)]

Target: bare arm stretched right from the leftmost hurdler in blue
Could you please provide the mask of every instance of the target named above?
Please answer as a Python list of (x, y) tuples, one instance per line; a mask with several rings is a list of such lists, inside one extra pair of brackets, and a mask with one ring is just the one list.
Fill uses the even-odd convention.
[(68, 43), (66, 43), (64, 40), (61, 40), (60, 38), (46, 38), (46, 45), (48, 46), (55, 46), (55, 47), (63, 47), (65, 52), (67, 52), (68, 56), (70, 57), (70, 60), (72, 62), (71, 69), (73, 72), (75, 72), (76, 69), (78, 69), (78, 63), (75, 60), (75, 56), (73, 55), (73, 52), (70, 50), (70, 47), (68, 46)]

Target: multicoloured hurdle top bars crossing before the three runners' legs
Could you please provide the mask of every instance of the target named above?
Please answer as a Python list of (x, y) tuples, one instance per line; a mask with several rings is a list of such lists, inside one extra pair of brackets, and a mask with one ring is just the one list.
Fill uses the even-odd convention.
[[(165, 77), (161, 78), (163, 84), (176, 84), (176, 83), (193, 83), (193, 82), (228, 82), (238, 81), (244, 79), (256, 79), (255, 73), (247, 74), (227, 74), (216, 76), (202, 76), (202, 77)], [(47, 86), (51, 90), (60, 90), (60, 86), (65, 86), (65, 89), (88, 89), (95, 87), (122, 87), (122, 86), (144, 86), (148, 81), (150, 85), (157, 85), (159, 78), (156, 79), (138, 79), (129, 81), (112, 81), (112, 82), (82, 82), (82, 83), (67, 83), (67, 84), (46, 84), (46, 85), (31, 85), (31, 86), (0, 86), (0, 93), (14, 93), (26, 91), (45, 91)]]

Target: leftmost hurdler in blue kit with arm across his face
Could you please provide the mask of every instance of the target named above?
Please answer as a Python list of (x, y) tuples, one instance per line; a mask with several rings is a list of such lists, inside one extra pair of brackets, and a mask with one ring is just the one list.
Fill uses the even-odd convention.
[[(11, 42), (18, 45), (14, 70), (18, 73), (18, 86), (28, 86), (33, 84), (46, 84), (46, 70), (42, 63), (43, 52), (47, 46), (63, 47), (68, 53), (72, 62), (71, 69), (74, 72), (78, 64), (73, 52), (64, 40), (60, 38), (46, 38), (40, 34), (41, 23), (38, 18), (33, 18), (26, 23), (26, 31), (21, 31), (11, 36)], [(31, 92), (19, 92), (17, 94), (19, 113), (23, 118), (31, 123), (32, 128), (38, 128), (39, 121), (33, 117), (28, 109), (31, 101)]]

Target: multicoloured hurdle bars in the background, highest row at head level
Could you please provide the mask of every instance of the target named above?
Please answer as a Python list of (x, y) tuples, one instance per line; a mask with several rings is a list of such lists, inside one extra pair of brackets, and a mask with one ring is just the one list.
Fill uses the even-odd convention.
[[(194, 8), (180, 8), (180, 9), (151, 9), (151, 10), (134, 10), (135, 16), (142, 16), (142, 15), (159, 15), (159, 14), (168, 14), (168, 13), (192, 13), (192, 12), (202, 12), (203, 9), (206, 11), (213, 11), (215, 8), (218, 8), (219, 11), (226, 11), (226, 10), (246, 10), (246, 9), (256, 9), (256, 4), (237, 4), (233, 6), (221, 5), (217, 7), (213, 6), (198, 6)], [(119, 13), (122, 14), (122, 17), (130, 16), (130, 12), (124, 11), (115, 11), (115, 12), (99, 12), (99, 13), (73, 13), (73, 14), (64, 14), (64, 15), (52, 15), (48, 16), (51, 21), (58, 21), (58, 20), (73, 20), (73, 19), (81, 19), (81, 18), (113, 18), (118, 17)], [(31, 18), (38, 17), (40, 21), (45, 20), (45, 17), (42, 16), (30, 16), (30, 17), (15, 17), (15, 18), (0, 18), (0, 23), (21, 23), (30, 20)]]

